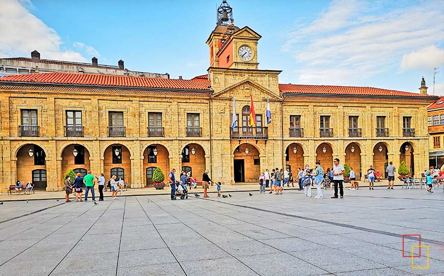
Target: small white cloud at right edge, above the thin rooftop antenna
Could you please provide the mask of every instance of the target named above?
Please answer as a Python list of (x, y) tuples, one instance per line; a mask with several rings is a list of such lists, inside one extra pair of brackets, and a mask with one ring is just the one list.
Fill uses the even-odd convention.
[(444, 50), (430, 45), (418, 51), (405, 54), (401, 61), (401, 70), (431, 70), (444, 64)]

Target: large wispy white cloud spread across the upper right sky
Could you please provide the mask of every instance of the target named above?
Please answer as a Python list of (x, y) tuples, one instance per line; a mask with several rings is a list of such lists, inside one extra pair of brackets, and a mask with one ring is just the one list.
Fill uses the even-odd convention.
[[(294, 30), (283, 51), (294, 53), (301, 68), (296, 72), (299, 82), (353, 84), (379, 73), (396, 73), (400, 64), (404, 70), (425, 65), (429, 56), (442, 53), (436, 46), (425, 48), (442, 45), (439, 2), (391, 10), (379, 4), (334, 1), (308, 26)], [(420, 56), (428, 58), (415, 61)]]

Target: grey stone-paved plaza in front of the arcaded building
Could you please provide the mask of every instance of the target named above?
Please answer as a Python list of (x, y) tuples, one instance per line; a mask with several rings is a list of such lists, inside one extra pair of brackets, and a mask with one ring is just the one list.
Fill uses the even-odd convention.
[(7, 201), (0, 275), (444, 275), (442, 190), (324, 192)]

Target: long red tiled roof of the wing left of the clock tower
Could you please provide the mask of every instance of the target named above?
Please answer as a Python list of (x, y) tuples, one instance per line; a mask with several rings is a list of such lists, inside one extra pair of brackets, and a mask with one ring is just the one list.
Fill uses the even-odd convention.
[(208, 88), (208, 86), (211, 85), (209, 81), (202, 80), (141, 78), (76, 73), (10, 75), (1, 77), (0, 81), (189, 90), (209, 90), (210, 88)]

